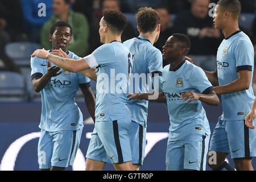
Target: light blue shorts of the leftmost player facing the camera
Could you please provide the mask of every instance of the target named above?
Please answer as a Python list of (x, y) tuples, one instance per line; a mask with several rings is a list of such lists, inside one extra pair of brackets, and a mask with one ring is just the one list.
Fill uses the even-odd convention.
[(82, 127), (76, 131), (48, 132), (41, 130), (38, 142), (39, 168), (72, 166), (79, 148), (81, 134)]

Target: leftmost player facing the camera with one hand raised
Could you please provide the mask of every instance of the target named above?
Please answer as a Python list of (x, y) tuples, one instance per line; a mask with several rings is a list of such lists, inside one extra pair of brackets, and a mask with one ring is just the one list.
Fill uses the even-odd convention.
[[(59, 21), (52, 25), (49, 35), (52, 49), (61, 48), (72, 59), (80, 59), (75, 53), (68, 51), (71, 37), (72, 27), (68, 23)], [(31, 58), (31, 68), (33, 88), (36, 92), (41, 92), (42, 97), (39, 168), (64, 170), (75, 160), (84, 126), (82, 113), (75, 102), (79, 87), (94, 120), (95, 98), (90, 88), (90, 79), (81, 73), (64, 71), (47, 59), (39, 57)]]

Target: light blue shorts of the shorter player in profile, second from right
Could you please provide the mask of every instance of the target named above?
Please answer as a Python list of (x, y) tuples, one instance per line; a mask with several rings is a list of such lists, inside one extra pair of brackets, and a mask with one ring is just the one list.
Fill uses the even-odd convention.
[(189, 134), (187, 137), (170, 141), (166, 150), (166, 170), (183, 171), (193, 169), (205, 171), (210, 136)]

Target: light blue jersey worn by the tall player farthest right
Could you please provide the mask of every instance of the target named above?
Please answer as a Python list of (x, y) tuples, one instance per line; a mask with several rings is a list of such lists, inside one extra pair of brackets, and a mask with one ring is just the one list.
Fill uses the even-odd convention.
[(238, 79), (239, 71), (251, 71), (250, 88), (240, 92), (222, 94), (223, 119), (243, 120), (254, 101), (251, 82), (254, 70), (254, 48), (249, 37), (237, 31), (224, 39), (217, 52), (218, 81), (220, 86)]

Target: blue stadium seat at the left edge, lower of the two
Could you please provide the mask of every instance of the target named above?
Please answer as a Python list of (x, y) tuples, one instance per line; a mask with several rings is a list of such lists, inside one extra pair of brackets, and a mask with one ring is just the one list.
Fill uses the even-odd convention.
[(16, 72), (0, 72), (0, 101), (27, 100), (24, 78)]

